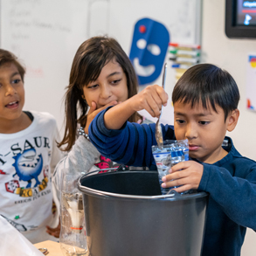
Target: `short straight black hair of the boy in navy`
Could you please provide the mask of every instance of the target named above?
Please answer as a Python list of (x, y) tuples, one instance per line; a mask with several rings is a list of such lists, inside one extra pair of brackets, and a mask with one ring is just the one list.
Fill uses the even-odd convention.
[(211, 104), (215, 112), (218, 105), (224, 110), (225, 120), (238, 108), (239, 99), (239, 88), (231, 74), (211, 64), (190, 67), (177, 81), (172, 93), (173, 104), (182, 101), (195, 107), (202, 103), (204, 109)]

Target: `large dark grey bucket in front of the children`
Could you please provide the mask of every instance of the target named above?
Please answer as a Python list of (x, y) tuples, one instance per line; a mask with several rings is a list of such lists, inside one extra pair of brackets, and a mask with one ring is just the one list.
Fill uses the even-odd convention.
[(155, 171), (80, 177), (92, 256), (199, 256), (208, 195), (161, 195)]

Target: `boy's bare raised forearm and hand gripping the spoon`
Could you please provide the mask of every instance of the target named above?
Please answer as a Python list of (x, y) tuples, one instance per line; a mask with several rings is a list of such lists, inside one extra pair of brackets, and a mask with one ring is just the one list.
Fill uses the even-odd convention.
[(108, 129), (120, 129), (136, 111), (145, 109), (153, 117), (159, 116), (162, 106), (167, 105), (168, 94), (161, 86), (147, 86), (142, 92), (109, 109), (104, 115)]

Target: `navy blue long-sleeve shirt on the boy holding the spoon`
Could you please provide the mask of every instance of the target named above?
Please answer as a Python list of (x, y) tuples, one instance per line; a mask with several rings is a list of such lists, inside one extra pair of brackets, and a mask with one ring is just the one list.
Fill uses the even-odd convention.
[[(89, 127), (90, 140), (100, 153), (117, 163), (154, 165), (151, 147), (156, 145), (156, 124), (126, 122), (119, 130), (109, 130), (103, 120), (106, 111), (100, 112)], [(162, 128), (164, 140), (175, 139), (172, 126)], [(197, 189), (210, 194), (203, 256), (240, 255), (246, 227), (256, 231), (256, 163), (241, 156), (232, 139), (225, 138), (228, 154), (217, 163), (202, 163), (204, 173)]]

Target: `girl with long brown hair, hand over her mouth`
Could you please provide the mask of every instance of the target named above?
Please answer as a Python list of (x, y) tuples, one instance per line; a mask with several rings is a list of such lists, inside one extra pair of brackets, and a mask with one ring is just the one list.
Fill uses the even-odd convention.
[[(80, 45), (66, 88), (66, 128), (59, 148), (68, 155), (57, 166), (57, 187), (60, 188), (61, 170), (80, 176), (81, 172), (116, 166), (100, 156), (85, 130), (101, 110), (128, 100), (137, 93), (137, 88), (134, 67), (114, 38), (89, 38)], [(135, 113), (128, 121), (141, 123), (143, 118)]]

